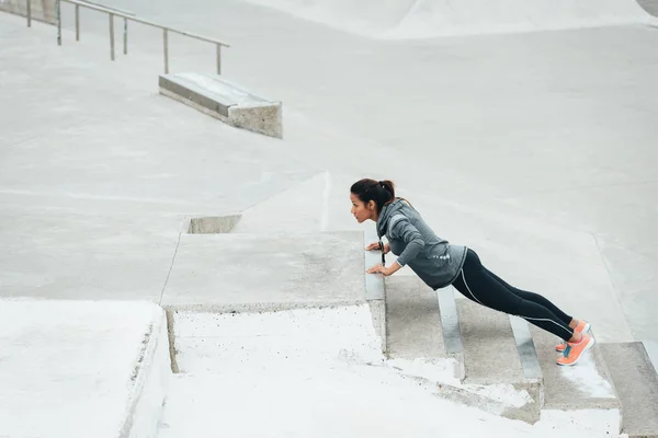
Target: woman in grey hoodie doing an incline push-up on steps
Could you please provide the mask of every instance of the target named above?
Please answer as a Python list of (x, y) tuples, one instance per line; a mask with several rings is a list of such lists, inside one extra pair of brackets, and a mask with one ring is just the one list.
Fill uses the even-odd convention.
[[(511, 287), (484, 267), (475, 251), (438, 238), (406, 199), (395, 197), (393, 182), (358, 181), (350, 188), (350, 199), (359, 223), (376, 222), (379, 242), (366, 250), (398, 256), (390, 267), (378, 264), (368, 268), (368, 274), (389, 276), (409, 265), (434, 290), (452, 285), (479, 304), (519, 315), (565, 341), (556, 347), (563, 353), (558, 365), (575, 365), (594, 345), (588, 334), (590, 324), (572, 319), (537, 293)], [(383, 245), (382, 235), (389, 243)]]

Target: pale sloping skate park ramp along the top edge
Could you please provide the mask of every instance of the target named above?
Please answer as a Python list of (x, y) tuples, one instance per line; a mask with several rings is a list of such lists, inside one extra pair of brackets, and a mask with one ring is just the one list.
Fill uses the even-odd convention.
[(649, 20), (635, 0), (246, 0), (358, 35), (428, 38), (594, 27)]

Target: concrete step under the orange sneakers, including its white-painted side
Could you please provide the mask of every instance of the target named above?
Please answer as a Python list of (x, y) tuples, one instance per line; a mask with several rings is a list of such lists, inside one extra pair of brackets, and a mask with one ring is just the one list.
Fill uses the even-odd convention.
[(577, 424), (586, 420), (590, 416), (588, 413), (594, 410), (597, 430), (617, 435), (620, 401), (600, 346), (594, 345), (577, 365), (561, 367), (556, 364), (559, 353), (555, 350), (561, 339), (534, 325), (531, 325), (531, 333), (544, 378), (542, 417), (567, 416), (569, 422)]

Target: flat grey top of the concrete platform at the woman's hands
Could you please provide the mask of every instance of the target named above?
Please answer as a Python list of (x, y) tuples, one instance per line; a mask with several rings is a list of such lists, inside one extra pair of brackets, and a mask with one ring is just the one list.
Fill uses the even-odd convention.
[(162, 304), (214, 310), (365, 302), (363, 233), (183, 234)]

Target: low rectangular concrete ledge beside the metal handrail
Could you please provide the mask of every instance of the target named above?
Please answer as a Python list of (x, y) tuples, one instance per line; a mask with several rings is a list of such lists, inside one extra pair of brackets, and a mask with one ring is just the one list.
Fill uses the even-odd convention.
[(260, 97), (217, 74), (160, 74), (160, 93), (235, 126), (282, 138), (282, 105)]

